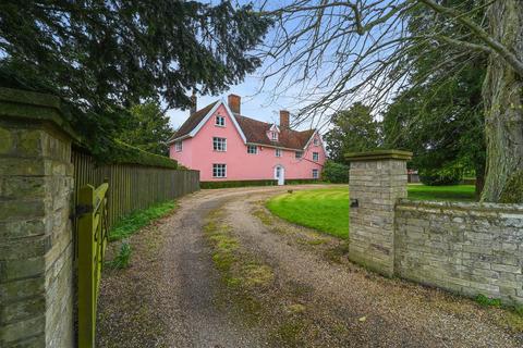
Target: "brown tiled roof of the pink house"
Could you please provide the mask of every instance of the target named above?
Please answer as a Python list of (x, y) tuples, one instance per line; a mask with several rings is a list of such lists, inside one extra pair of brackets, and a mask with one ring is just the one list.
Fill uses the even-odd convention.
[[(173, 135), (172, 139), (188, 135), (199, 124), (199, 122), (202, 122), (202, 120), (207, 115), (210, 109), (215, 107), (215, 104), (216, 102), (192, 114)], [(303, 149), (315, 132), (315, 129), (300, 132), (280, 127), (278, 141), (271, 141), (267, 136), (267, 132), (270, 129), (272, 124), (239, 114), (234, 114), (234, 117), (236, 119), (240, 128), (242, 128), (247, 142), (289, 149)]]

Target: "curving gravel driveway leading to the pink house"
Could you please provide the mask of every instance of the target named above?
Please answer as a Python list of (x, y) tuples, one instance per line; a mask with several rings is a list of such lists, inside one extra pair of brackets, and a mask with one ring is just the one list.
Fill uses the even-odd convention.
[[(507, 311), (368, 273), (344, 241), (271, 216), (263, 201), (280, 191), (203, 190), (133, 236), (131, 266), (104, 274), (98, 346), (523, 347)], [(223, 284), (204, 233), (217, 211), (269, 285)], [(260, 307), (254, 321), (235, 306), (244, 296)]]

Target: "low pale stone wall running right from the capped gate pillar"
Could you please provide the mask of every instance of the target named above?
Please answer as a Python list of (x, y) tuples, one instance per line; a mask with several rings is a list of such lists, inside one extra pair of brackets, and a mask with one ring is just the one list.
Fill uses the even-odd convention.
[(523, 206), (402, 200), (394, 240), (401, 277), (523, 303)]

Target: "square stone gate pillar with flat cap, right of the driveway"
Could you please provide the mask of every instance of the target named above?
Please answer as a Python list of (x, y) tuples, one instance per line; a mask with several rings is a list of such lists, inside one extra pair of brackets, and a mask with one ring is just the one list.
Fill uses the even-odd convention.
[(380, 274), (394, 273), (394, 206), (406, 198), (406, 161), (412, 152), (348, 153), (349, 259)]

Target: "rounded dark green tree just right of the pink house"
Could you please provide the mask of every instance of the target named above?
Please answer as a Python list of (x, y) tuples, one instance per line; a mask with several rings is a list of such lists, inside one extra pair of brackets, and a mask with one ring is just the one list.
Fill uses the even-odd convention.
[(376, 149), (379, 142), (380, 124), (370, 114), (370, 108), (356, 102), (350, 110), (332, 116), (332, 128), (324, 136), (329, 158), (344, 162), (348, 152)]

